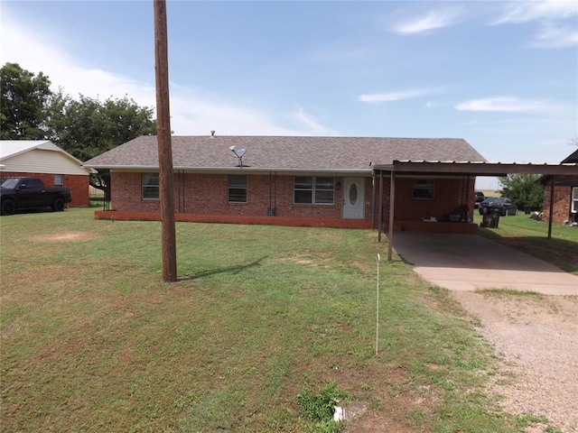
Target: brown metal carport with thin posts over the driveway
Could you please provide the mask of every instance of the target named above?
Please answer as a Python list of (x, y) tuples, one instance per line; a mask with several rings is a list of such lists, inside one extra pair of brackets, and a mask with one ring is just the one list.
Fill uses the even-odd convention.
[[(383, 231), (384, 177), (389, 177), (389, 227), (387, 237), (387, 259), (391, 260), (394, 241), (396, 177), (398, 176), (444, 176), (444, 177), (505, 177), (508, 174), (541, 174), (552, 179), (550, 186), (550, 215), (554, 206), (554, 187), (564, 178), (575, 177), (578, 163), (532, 164), (501, 162), (461, 162), (461, 161), (393, 161), (392, 164), (374, 166), (374, 178), (378, 178), (378, 241)], [(374, 186), (374, 195), (376, 193)], [(374, 213), (375, 215), (375, 213)], [(552, 237), (552, 218), (548, 221), (548, 239)]]

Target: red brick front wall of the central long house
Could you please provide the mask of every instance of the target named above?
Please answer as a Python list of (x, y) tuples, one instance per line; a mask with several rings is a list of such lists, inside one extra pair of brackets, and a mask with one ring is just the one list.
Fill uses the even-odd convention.
[[(159, 200), (145, 200), (141, 196), (141, 174), (137, 172), (111, 173), (112, 212), (98, 212), (97, 217), (116, 219), (158, 219)], [(360, 220), (341, 218), (342, 177), (336, 177), (334, 203), (331, 205), (294, 204), (293, 176), (268, 174), (247, 175), (247, 203), (228, 203), (228, 177), (226, 174), (174, 173), (174, 205), (177, 220), (199, 222), (224, 222), (243, 224), (280, 224), (284, 226), (350, 226), (369, 228), (373, 219), (372, 179), (365, 179), (365, 217)], [(378, 213), (379, 180), (376, 179), (376, 205)], [(383, 180), (383, 216), (387, 224), (389, 214), (389, 179)], [(396, 179), (396, 222), (406, 222), (406, 227), (417, 227), (409, 222), (423, 222), (435, 217), (447, 221), (450, 214), (461, 206), (468, 207), (473, 216), (474, 180), (452, 178), (434, 180), (434, 198), (413, 198), (414, 180)], [(269, 207), (276, 209), (276, 216), (268, 216)], [(375, 216), (377, 222), (378, 216)], [(448, 229), (444, 226), (443, 230)], [(427, 228), (427, 227), (425, 227)], [(442, 229), (442, 226), (437, 227)], [(455, 230), (455, 228), (454, 228)], [(454, 231), (450, 230), (450, 231)]]

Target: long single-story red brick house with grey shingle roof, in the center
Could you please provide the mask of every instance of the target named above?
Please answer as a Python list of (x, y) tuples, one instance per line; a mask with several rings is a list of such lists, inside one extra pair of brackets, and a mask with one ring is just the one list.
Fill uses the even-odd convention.
[[(380, 202), (387, 220), (389, 179), (377, 179), (373, 167), (395, 160), (486, 161), (469, 143), (452, 138), (173, 136), (175, 218), (375, 227)], [(159, 219), (156, 136), (138, 137), (84, 166), (110, 177), (110, 210), (96, 217)], [(396, 228), (404, 221), (433, 228), (424, 219), (435, 219), (441, 222), (436, 230), (446, 222), (450, 231), (459, 231), (450, 219), (460, 212), (472, 217), (474, 182), (473, 176), (397, 179)], [(382, 200), (379, 190), (385, 191)], [(461, 226), (475, 230), (472, 223)]]

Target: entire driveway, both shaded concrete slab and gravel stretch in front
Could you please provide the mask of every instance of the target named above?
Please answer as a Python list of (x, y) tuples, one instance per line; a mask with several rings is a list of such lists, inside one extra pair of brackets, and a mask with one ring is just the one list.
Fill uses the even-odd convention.
[[(528, 433), (578, 433), (578, 277), (478, 235), (401, 232), (393, 242), (480, 320), (501, 366), (489, 392), (504, 409), (548, 419)], [(509, 290), (480, 291), (489, 288)]]

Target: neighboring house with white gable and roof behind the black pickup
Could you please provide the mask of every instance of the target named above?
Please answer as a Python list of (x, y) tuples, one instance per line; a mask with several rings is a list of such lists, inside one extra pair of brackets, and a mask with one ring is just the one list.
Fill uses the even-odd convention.
[(70, 207), (89, 206), (89, 174), (82, 161), (56, 144), (37, 140), (0, 141), (0, 177), (33, 176), (47, 187), (70, 188)]

